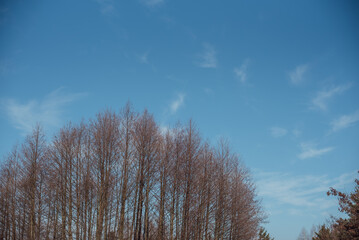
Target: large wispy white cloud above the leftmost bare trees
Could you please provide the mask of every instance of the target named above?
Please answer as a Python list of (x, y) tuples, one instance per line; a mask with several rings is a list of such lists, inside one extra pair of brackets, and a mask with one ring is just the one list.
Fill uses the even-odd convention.
[(14, 127), (27, 134), (32, 131), (36, 123), (44, 127), (59, 127), (65, 105), (84, 95), (84, 93), (66, 94), (60, 88), (45, 96), (42, 101), (30, 100), (19, 103), (15, 99), (3, 99), (1, 105)]

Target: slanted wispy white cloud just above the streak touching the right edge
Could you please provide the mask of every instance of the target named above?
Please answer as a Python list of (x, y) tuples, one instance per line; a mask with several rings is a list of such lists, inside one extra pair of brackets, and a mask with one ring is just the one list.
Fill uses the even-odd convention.
[(322, 90), (317, 93), (316, 97), (312, 100), (312, 109), (327, 110), (328, 101), (335, 95), (339, 95), (351, 87), (351, 84), (336, 86)]

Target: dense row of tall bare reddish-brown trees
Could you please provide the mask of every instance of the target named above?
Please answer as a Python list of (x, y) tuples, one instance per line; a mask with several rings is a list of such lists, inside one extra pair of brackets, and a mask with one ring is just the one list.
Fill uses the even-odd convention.
[(253, 239), (263, 220), (226, 141), (129, 104), (52, 141), (36, 127), (0, 171), (0, 239)]

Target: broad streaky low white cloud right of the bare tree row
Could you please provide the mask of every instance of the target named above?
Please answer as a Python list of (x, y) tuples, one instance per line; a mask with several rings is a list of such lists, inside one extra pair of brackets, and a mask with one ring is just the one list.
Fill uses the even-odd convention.
[[(328, 176), (292, 176), (279, 172), (254, 173), (257, 178), (257, 189), (260, 196), (267, 201), (274, 200), (277, 207), (283, 204), (289, 206), (325, 210), (335, 206), (336, 200), (327, 198), (326, 192), (330, 187), (342, 189), (351, 184), (356, 172), (342, 174), (336, 178)], [(280, 207), (281, 208), (281, 207)], [(282, 208), (281, 208), (282, 209)]]

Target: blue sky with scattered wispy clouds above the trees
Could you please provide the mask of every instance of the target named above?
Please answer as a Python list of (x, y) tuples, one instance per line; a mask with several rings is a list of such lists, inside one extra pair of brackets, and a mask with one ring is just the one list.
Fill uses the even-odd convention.
[(337, 215), (359, 169), (356, 1), (0, 3), (0, 155), (130, 100), (161, 127), (192, 118), (251, 169), (268, 231)]

